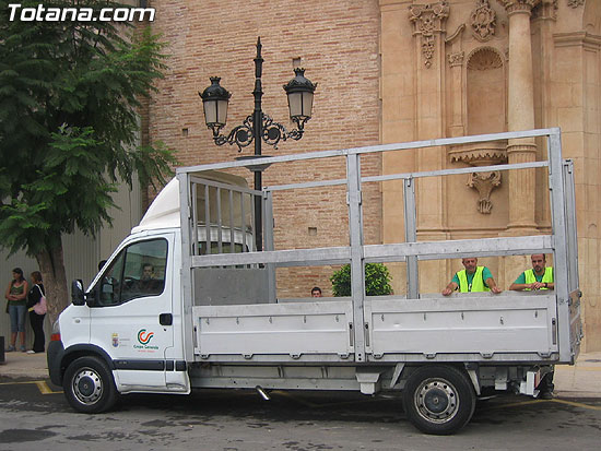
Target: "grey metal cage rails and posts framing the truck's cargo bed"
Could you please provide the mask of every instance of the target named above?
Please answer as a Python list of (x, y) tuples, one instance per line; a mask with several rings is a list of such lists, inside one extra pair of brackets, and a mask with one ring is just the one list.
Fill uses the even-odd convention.
[[(539, 161), (522, 164), (506, 164), (483, 167), (470, 167), (458, 169), (443, 169), (422, 173), (403, 173), (382, 176), (362, 177), (361, 175), (361, 156), (381, 152), (402, 152), (405, 150), (444, 146), (451, 144), (481, 143), (498, 140), (516, 140), (522, 138), (546, 138), (546, 161)], [(520, 132), (507, 132), (496, 134), (483, 134), (475, 137), (463, 138), (447, 138), (431, 141), (417, 141), (411, 143), (397, 143), (366, 147), (346, 149), (340, 151), (313, 152), (299, 155), (286, 155), (276, 157), (264, 157), (255, 159), (252, 164), (271, 165), (272, 167), (287, 162), (311, 161), (320, 158), (344, 157), (346, 161), (346, 177), (344, 179), (332, 179), (323, 181), (309, 181), (302, 183), (287, 183), (281, 186), (272, 186), (263, 188), (262, 192), (252, 190), (241, 190), (245, 194), (252, 197), (259, 195), (262, 202), (263, 210), (263, 227), (264, 227), (264, 251), (255, 251), (256, 247), (250, 247), (249, 252), (227, 252), (223, 253), (222, 242), (223, 237), (221, 230), (222, 223), (222, 204), (221, 190), (228, 190), (229, 197), (233, 192), (232, 187), (220, 186), (219, 183), (209, 183), (200, 179), (193, 178), (191, 173), (198, 173), (208, 169), (227, 169), (245, 166), (244, 162), (220, 163), (203, 166), (193, 166), (187, 168), (178, 168), (177, 177), (179, 179), (180, 199), (187, 199), (191, 205), (197, 205), (197, 186), (204, 183), (205, 198), (210, 198), (209, 189), (216, 189), (217, 203), (216, 209), (217, 222), (214, 224), (219, 230), (217, 236), (217, 253), (209, 253), (201, 256), (198, 252), (190, 252), (184, 256), (185, 269), (182, 277), (185, 284), (193, 284), (191, 271), (202, 268), (212, 266), (240, 266), (254, 265), (255, 268), (267, 268), (270, 273), (270, 300), (274, 301), (275, 297), (275, 278), (274, 269), (276, 266), (294, 266), (294, 265), (329, 265), (339, 263), (350, 263), (352, 274), (352, 310), (353, 324), (351, 324), (352, 349), (355, 353), (356, 361), (366, 359), (366, 352), (370, 349), (368, 343), (373, 336), (369, 330), (370, 320), (366, 318), (366, 297), (364, 295), (364, 264), (366, 262), (406, 262), (406, 278), (408, 289), (406, 299), (420, 299), (422, 296), (419, 289), (419, 265), (420, 260), (444, 260), (462, 257), (481, 257), (481, 256), (511, 256), (511, 254), (528, 254), (538, 252), (553, 252), (555, 268), (555, 300), (557, 306), (558, 318), (578, 318), (578, 253), (576, 240), (576, 212), (574, 199), (574, 180), (573, 180), (573, 164), (570, 161), (562, 159), (561, 132), (559, 129), (543, 129)], [(529, 168), (549, 169), (549, 189), (550, 189), (550, 207), (552, 216), (552, 234), (506, 238), (479, 238), (463, 240), (444, 240), (444, 241), (417, 241), (416, 230), (416, 204), (415, 204), (415, 183), (420, 178), (451, 176), (458, 174), (482, 173), (490, 170), (521, 170)], [(273, 170), (273, 169), (272, 169)], [(364, 245), (363, 230), (363, 204), (362, 204), (362, 187), (369, 182), (384, 182), (388, 180), (402, 180), (404, 194), (404, 218), (405, 218), (405, 236), (404, 242), (385, 244), (385, 245)], [(200, 185), (199, 185), (200, 183)], [(346, 186), (346, 201), (349, 205), (349, 227), (350, 227), (350, 245), (337, 247), (322, 247), (311, 249), (284, 249), (273, 250), (273, 193), (283, 190), (292, 189), (308, 189), (315, 187), (330, 186)], [(232, 205), (234, 201), (231, 201)], [(205, 204), (204, 217), (211, 217), (211, 209), (213, 206)], [(241, 201), (240, 209), (243, 211), (245, 202)], [(181, 209), (181, 226), (182, 226), (182, 245), (184, 249), (191, 249), (191, 242), (198, 242), (198, 229), (202, 227), (199, 224), (197, 209), (191, 211)], [(231, 221), (233, 224), (234, 221)], [(254, 218), (251, 224), (254, 224)], [(205, 227), (205, 236), (211, 240), (211, 227), (209, 221), (203, 224)], [(244, 228), (245, 225), (240, 224)], [(228, 233), (229, 242), (235, 241), (233, 227)], [(245, 234), (243, 233), (243, 239)], [(210, 244), (208, 245), (210, 248)], [(231, 246), (231, 250), (233, 247)], [(185, 290), (185, 293), (193, 293), (193, 290)], [(266, 300), (268, 301), (268, 300)], [(192, 302), (192, 299), (188, 299)], [(373, 307), (373, 306), (372, 306)], [(373, 310), (373, 308), (370, 309)], [(369, 309), (368, 309), (369, 310)], [(377, 310), (377, 309), (376, 309)], [(559, 346), (559, 359), (569, 361), (574, 358), (573, 347), (575, 335), (574, 321), (559, 321), (557, 331)], [(570, 343), (571, 336), (571, 343)], [(381, 356), (380, 356), (381, 358)]]

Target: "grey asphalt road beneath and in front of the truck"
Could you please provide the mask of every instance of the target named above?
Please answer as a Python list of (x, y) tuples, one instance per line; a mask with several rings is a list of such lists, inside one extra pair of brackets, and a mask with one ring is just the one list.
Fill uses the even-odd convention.
[[(452, 437), (425, 436), (394, 396), (199, 391), (129, 395), (102, 415), (74, 413), (56, 387), (0, 380), (0, 450), (597, 450), (601, 400), (479, 403)], [(46, 393), (46, 394), (44, 394)]]

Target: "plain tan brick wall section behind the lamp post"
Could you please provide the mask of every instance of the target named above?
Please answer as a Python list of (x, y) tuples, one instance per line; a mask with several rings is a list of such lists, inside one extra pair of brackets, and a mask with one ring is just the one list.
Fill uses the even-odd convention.
[[(157, 84), (149, 108), (150, 139), (177, 150), (181, 165), (232, 161), (236, 146), (213, 144), (198, 96), (209, 78), (222, 78), (232, 92), (228, 124), (240, 124), (252, 112), (254, 61), (257, 36), (263, 45), (263, 111), (292, 128), (282, 85), (294, 76), (300, 58), (305, 75), (318, 87), (313, 119), (300, 141), (287, 141), (263, 155), (285, 155), (379, 143), (379, 10), (376, 0), (356, 1), (153, 1), (154, 33), (169, 46), (169, 69)], [(252, 146), (243, 151), (250, 155)], [(362, 174), (380, 174), (380, 157), (362, 159)], [(342, 158), (274, 166), (263, 185), (341, 178)], [(250, 173), (247, 176), (252, 186)], [(380, 187), (365, 187), (365, 241), (380, 242)], [(276, 249), (345, 246), (349, 244), (345, 194), (342, 188), (278, 194), (274, 205)], [(282, 269), (279, 296), (307, 296), (319, 285), (331, 293), (332, 269)]]

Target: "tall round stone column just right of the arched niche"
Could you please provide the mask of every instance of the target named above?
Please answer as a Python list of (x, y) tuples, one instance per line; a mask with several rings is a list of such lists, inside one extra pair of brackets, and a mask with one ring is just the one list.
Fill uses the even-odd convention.
[[(541, 0), (497, 0), (509, 16), (509, 83), (508, 83), (508, 129), (509, 131), (534, 128), (534, 81), (532, 75), (532, 43), (530, 15), (532, 8)], [(507, 146), (509, 164), (529, 163), (537, 159), (533, 139), (509, 140)], [(537, 233), (534, 169), (509, 173), (509, 235)]]

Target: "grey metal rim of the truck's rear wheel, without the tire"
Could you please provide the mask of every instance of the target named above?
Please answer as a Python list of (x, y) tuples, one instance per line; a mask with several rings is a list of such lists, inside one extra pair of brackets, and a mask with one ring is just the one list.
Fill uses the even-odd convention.
[(443, 378), (422, 381), (413, 401), (420, 416), (431, 423), (447, 423), (459, 412), (457, 389)]

